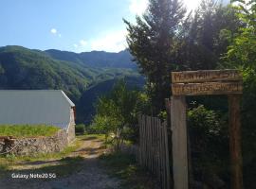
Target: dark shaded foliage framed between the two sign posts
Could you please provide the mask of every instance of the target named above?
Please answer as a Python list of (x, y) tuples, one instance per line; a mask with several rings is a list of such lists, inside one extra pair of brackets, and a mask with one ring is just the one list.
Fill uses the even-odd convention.
[(219, 113), (203, 105), (188, 112), (192, 172), (195, 180), (206, 182), (212, 175), (228, 181), (229, 132)]

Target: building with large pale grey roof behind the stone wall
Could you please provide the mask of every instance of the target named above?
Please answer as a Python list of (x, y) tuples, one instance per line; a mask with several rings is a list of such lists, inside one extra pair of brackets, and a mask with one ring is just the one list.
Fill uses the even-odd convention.
[(75, 104), (61, 90), (0, 90), (0, 126), (45, 124), (75, 138)]

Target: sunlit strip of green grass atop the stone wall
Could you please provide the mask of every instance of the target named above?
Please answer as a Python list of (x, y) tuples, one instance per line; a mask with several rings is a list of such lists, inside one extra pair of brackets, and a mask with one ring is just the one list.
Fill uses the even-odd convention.
[(52, 136), (60, 128), (46, 125), (0, 125), (0, 136), (38, 137)]

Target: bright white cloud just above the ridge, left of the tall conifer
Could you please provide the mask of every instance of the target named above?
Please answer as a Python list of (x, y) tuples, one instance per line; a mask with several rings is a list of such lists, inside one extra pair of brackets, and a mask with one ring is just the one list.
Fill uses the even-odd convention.
[(91, 50), (119, 52), (126, 47), (126, 29), (105, 33), (99, 38), (89, 41)]

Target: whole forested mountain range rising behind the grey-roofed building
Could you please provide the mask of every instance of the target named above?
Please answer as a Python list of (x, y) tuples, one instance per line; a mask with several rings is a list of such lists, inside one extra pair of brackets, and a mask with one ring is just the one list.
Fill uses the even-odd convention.
[(89, 122), (98, 96), (110, 91), (119, 78), (139, 87), (144, 84), (127, 53), (0, 47), (0, 89), (61, 89), (78, 107), (78, 121)]

